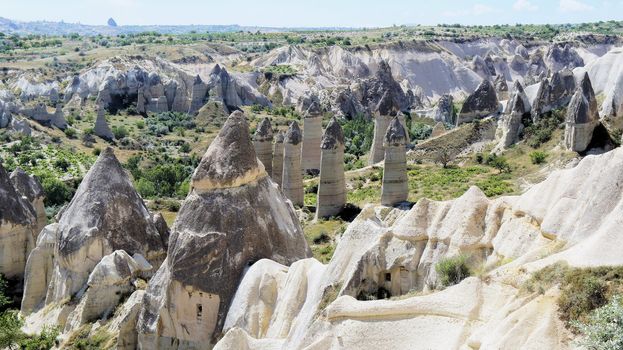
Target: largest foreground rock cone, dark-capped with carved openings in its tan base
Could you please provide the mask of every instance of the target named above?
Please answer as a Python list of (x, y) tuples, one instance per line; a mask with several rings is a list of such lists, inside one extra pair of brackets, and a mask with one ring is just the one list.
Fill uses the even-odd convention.
[(139, 348), (210, 348), (247, 267), (310, 255), (293, 208), (257, 161), (246, 118), (232, 113), (192, 176), (167, 260), (149, 283)]

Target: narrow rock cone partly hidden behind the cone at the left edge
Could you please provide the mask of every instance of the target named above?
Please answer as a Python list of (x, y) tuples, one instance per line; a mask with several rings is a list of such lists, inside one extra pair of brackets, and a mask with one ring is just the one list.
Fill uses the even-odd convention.
[[(34, 176), (26, 174), (26, 172), (20, 168), (16, 168), (11, 173), (10, 178), (17, 193), (28, 200), (37, 217), (36, 226), (34, 228), (35, 236), (33, 246), (29, 248), (29, 254), (30, 249), (34, 248), (34, 243), (37, 241), (37, 235), (39, 235), (39, 232), (41, 232), (48, 222), (48, 218), (45, 214), (45, 204), (43, 203), (45, 194), (39, 181)], [(28, 257), (28, 254), (26, 257)]]

